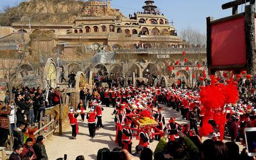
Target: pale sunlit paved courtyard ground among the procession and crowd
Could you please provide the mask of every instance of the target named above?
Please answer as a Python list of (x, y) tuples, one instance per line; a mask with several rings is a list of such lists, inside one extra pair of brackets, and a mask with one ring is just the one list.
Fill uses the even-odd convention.
[[(161, 106), (161, 105), (160, 105)], [(166, 122), (170, 117), (176, 117), (176, 121), (180, 124), (188, 123), (188, 121), (181, 119), (180, 113), (171, 110), (164, 105), (163, 112), (166, 117)], [(70, 125), (64, 129), (63, 136), (52, 136), (50, 140), (46, 141), (46, 151), (48, 158), (53, 160), (60, 157), (64, 157), (64, 154), (68, 155), (68, 159), (75, 159), (77, 155), (84, 155), (85, 159), (96, 159), (97, 151), (101, 148), (109, 148), (110, 150), (118, 147), (115, 145), (115, 127), (114, 127), (114, 116), (111, 115), (113, 108), (104, 107), (102, 123), (105, 125), (104, 129), (96, 130), (96, 136), (91, 138), (89, 136), (89, 129), (87, 121), (80, 121), (79, 116), (79, 134), (76, 140), (69, 139), (71, 137)], [(207, 137), (204, 137), (204, 139)], [(133, 138), (133, 148), (138, 145), (139, 141)], [(158, 141), (151, 143), (152, 151), (155, 150)], [(240, 145), (240, 149), (242, 146)]]

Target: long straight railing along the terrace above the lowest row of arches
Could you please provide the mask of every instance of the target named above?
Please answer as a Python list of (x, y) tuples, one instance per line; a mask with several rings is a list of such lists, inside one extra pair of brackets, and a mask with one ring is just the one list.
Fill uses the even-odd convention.
[(206, 54), (206, 48), (147, 48), (147, 49), (114, 49), (115, 53), (134, 54)]

